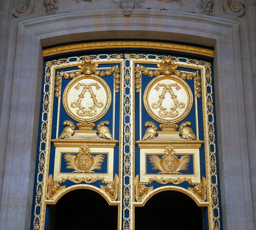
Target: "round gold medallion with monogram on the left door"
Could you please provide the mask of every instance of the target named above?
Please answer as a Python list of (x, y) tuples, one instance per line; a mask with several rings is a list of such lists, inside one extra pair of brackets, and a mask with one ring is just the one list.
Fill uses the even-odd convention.
[(111, 91), (107, 83), (96, 75), (81, 75), (68, 83), (63, 105), (74, 120), (94, 122), (107, 113), (111, 105)]

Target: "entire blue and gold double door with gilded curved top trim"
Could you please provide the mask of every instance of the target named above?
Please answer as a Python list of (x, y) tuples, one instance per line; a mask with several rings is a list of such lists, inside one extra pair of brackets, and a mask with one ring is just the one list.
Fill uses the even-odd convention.
[(109, 41), (43, 55), (32, 229), (76, 189), (116, 205), (120, 230), (134, 230), (136, 207), (165, 190), (203, 207), (204, 229), (221, 229), (213, 50)]

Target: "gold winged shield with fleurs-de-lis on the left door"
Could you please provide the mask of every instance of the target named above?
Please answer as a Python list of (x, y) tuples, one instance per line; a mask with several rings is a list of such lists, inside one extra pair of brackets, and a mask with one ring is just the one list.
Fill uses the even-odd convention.
[(67, 162), (67, 169), (74, 169), (73, 173), (94, 173), (93, 170), (101, 170), (104, 155), (96, 154), (92, 156), (90, 148), (87, 145), (82, 145), (79, 149), (80, 154), (65, 154), (64, 159)]

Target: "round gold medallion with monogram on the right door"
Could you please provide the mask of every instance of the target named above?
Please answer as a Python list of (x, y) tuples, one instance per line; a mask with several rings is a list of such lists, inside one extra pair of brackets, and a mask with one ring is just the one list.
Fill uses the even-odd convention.
[(152, 80), (145, 89), (143, 100), (149, 116), (160, 123), (180, 122), (193, 105), (189, 85), (175, 75), (161, 75)]

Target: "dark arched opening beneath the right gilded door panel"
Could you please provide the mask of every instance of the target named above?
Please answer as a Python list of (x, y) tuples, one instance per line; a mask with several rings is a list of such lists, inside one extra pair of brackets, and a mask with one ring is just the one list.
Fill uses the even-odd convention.
[(135, 230), (202, 230), (203, 209), (187, 195), (163, 191), (135, 207)]

